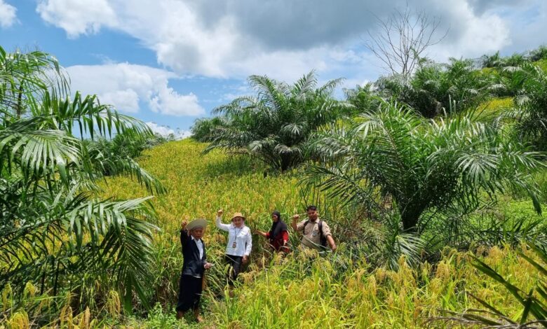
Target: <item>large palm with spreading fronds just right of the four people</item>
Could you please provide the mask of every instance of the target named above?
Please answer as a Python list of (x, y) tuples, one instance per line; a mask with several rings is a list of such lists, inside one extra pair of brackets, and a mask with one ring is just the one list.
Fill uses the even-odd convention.
[(383, 102), (348, 125), (331, 125), (313, 138), (323, 163), (307, 181), (346, 201), (380, 207), (391, 198), (403, 230), (420, 232), (426, 211), (475, 209), (482, 192), (495, 198), (526, 190), (541, 211), (530, 173), (539, 153), (475, 122), (471, 115), (426, 120), (412, 109)]

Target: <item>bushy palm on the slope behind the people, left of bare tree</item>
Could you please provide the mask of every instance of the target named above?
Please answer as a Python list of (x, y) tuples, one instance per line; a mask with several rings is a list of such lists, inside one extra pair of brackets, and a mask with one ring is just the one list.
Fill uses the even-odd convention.
[(304, 160), (309, 135), (341, 118), (352, 106), (332, 97), (341, 79), (321, 87), (313, 71), (288, 85), (267, 76), (250, 76), (255, 97), (239, 97), (215, 109), (224, 120), (212, 132), (207, 151), (224, 148), (257, 156), (285, 171)]

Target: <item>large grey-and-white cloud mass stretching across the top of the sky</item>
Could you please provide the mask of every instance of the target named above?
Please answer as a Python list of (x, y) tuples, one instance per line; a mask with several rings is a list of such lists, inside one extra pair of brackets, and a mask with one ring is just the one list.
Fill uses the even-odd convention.
[[(43, 20), (73, 37), (102, 27), (123, 31), (154, 50), (159, 64), (177, 74), (243, 78), (267, 73), (288, 80), (312, 68), (330, 76), (332, 66), (353, 68), (370, 60), (348, 49), (363, 48), (366, 31), (374, 33), (375, 18), (384, 19), (407, 3), (156, 0), (150, 10), (149, 0), (100, 0), (94, 5), (100, 9), (88, 13), (86, 1), (95, 3), (41, 0), (37, 10)], [(531, 6), (538, 1), (516, 2)], [(411, 5), (440, 18), (443, 28), (450, 27), (445, 41), (432, 49), (434, 58), (444, 60), (449, 53), (473, 57), (509, 45), (508, 24), (493, 8), (520, 8), (509, 0), (420, 0)], [(348, 59), (351, 62), (344, 63)]]

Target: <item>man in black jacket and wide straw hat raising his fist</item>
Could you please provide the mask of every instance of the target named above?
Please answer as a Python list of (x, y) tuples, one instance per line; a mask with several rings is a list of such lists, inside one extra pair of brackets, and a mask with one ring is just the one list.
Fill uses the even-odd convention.
[(207, 226), (205, 219), (196, 219), (180, 225), (180, 244), (182, 245), (182, 274), (180, 274), (179, 298), (177, 301), (177, 318), (182, 318), (184, 312), (194, 309), (196, 321), (201, 322), (199, 302), (203, 288), (203, 274), (212, 264), (207, 262), (205, 244), (201, 237)]

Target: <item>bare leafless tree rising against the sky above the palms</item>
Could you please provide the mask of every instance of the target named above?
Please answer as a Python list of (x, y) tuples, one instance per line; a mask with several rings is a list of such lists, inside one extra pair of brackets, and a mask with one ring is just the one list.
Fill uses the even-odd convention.
[(396, 10), (386, 20), (377, 19), (377, 32), (368, 30), (369, 39), (365, 45), (384, 64), (392, 74), (403, 78), (410, 76), (419, 63), (419, 59), (428, 47), (445, 38), (435, 38), (438, 34), (440, 18), (430, 18), (425, 11)]

